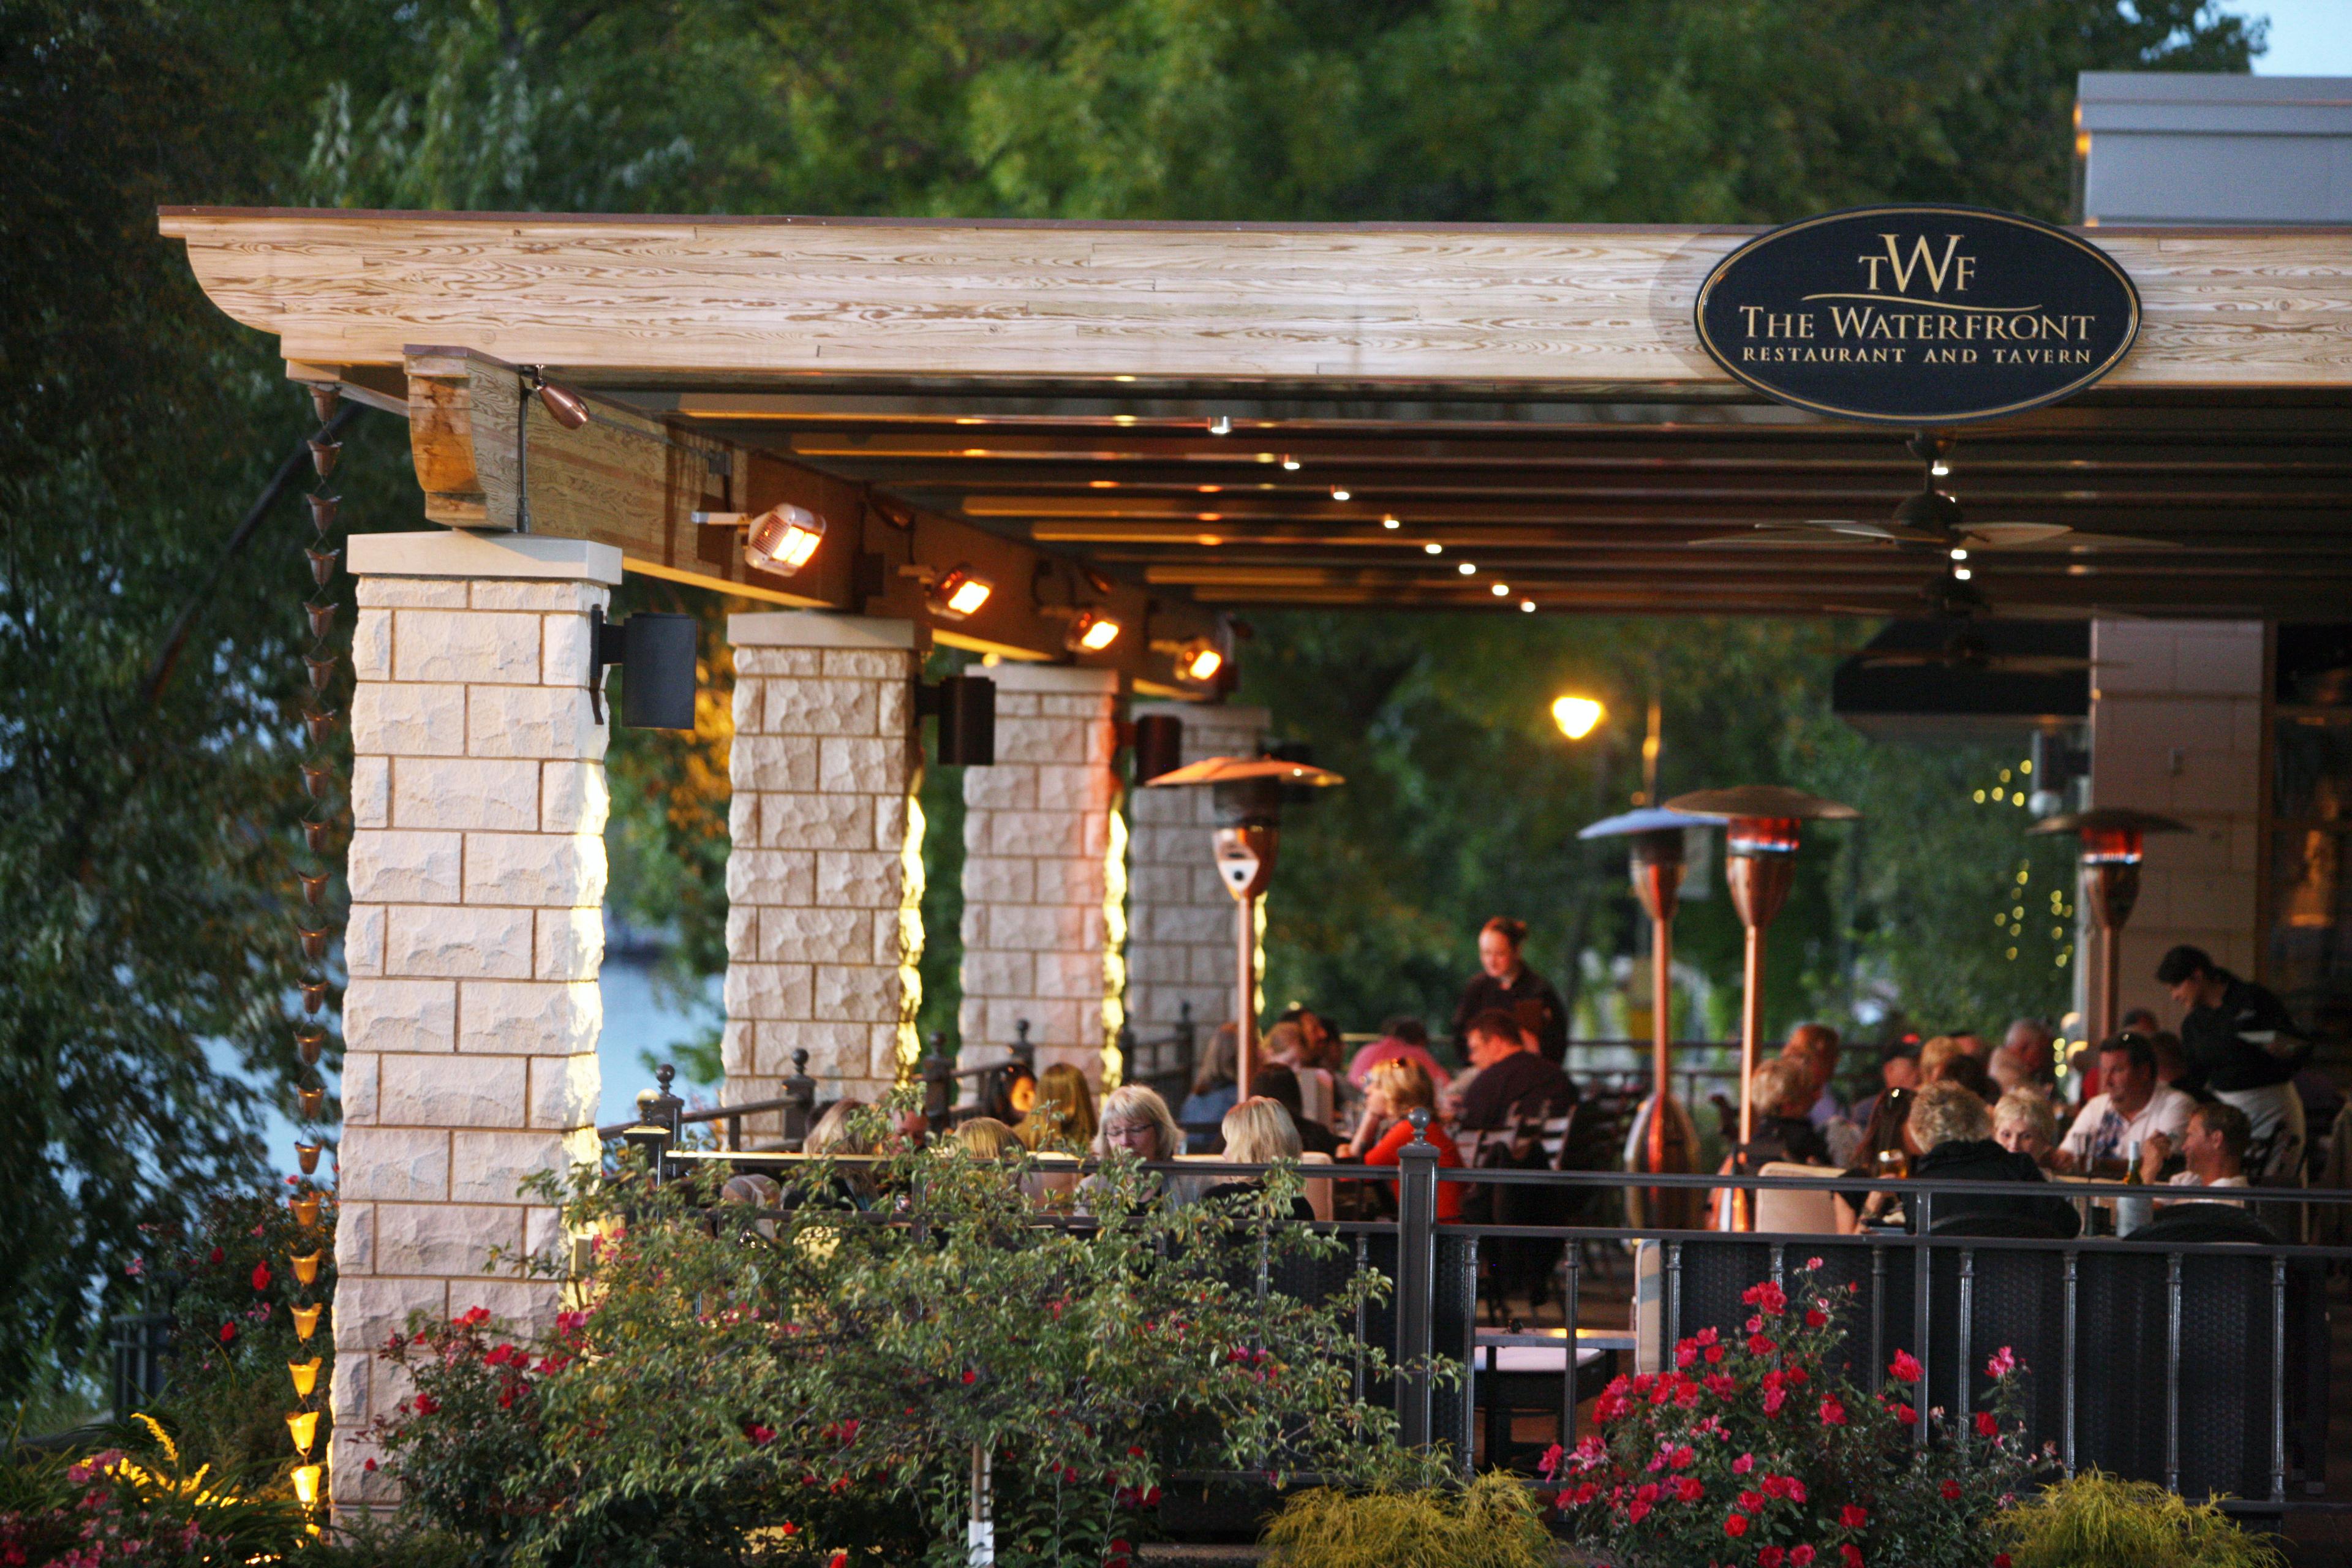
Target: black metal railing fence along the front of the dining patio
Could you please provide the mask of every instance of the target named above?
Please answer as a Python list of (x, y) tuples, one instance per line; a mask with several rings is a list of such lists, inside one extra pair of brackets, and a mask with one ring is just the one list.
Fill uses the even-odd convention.
[[(703, 1119), (720, 1119), (708, 1112)], [(1416, 1112), (1416, 1121), (1423, 1112)], [(654, 1171), (689, 1161), (790, 1161), (793, 1154), (675, 1150), (680, 1121), (635, 1126), (628, 1135)], [(616, 1128), (614, 1128), (616, 1131)], [(1263, 1175), (1265, 1166), (1181, 1161), (1152, 1166), (1171, 1175)], [(1700, 1328), (1743, 1333), (1752, 1307), (1740, 1293), (1762, 1281), (1809, 1274), (1825, 1293), (1844, 1293), (1851, 1331), (1835, 1371), (1877, 1392), (1893, 1352), (1917, 1356), (1924, 1389), (1915, 1441), (1929, 1441), (1931, 1410), (1966, 1422), (1987, 1396), (1985, 1359), (2009, 1347), (2027, 1368), (2025, 1422), (2032, 1443), (2049, 1443), (2067, 1474), (2103, 1469), (2157, 1481), (2194, 1497), (2225, 1497), (2251, 1514), (2338, 1509), (2321, 1502), (2328, 1450), (2331, 1338), (2326, 1269), (2352, 1262), (2352, 1246), (2305, 1246), (2265, 1239), (2246, 1225), (2237, 1239), (2187, 1234), (2077, 1237), (1997, 1234), (1999, 1227), (1955, 1215), (1936, 1225), (1936, 1206), (1966, 1197), (2018, 1199), (2018, 1182), (1950, 1182), (1844, 1175), (1628, 1175), (1618, 1171), (1439, 1168), (1439, 1150), (1404, 1145), (1399, 1166), (1308, 1166), (1315, 1180), (1392, 1182), (1392, 1220), (1327, 1222), (1352, 1246), (1355, 1269), (1376, 1269), (1392, 1293), (1357, 1316), (1357, 1342), (1392, 1354), (1390, 1385), (1357, 1392), (1392, 1399), (1409, 1443), (1446, 1443), (1468, 1472), (1472, 1429), (1486, 1410), (1486, 1462), (1510, 1458), (1510, 1415), (1557, 1410), (1557, 1441), (1578, 1439), (1578, 1406), (1632, 1356), (1656, 1371), (1675, 1345)], [(1658, 1187), (1762, 1192), (1837, 1192), (1856, 1206), (1872, 1192), (1900, 1197), (1905, 1229), (1703, 1232), (1658, 1225), (1446, 1225), (1442, 1182), (1465, 1187), (1550, 1187), (1621, 1192)], [(2122, 1182), (2044, 1187), (2091, 1208), (2110, 1201), (2171, 1199), (2171, 1190)], [(2303, 1234), (2305, 1215), (2352, 1204), (2343, 1190), (2232, 1190)], [(1755, 1201), (1755, 1199), (1752, 1199)], [(2199, 1204), (2220, 1211), (2216, 1201)], [(2246, 1211), (2237, 1211), (2246, 1213)], [(1063, 1220), (1068, 1222), (1068, 1220)], [(1976, 1225), (1976, 1234), (1969, 1225)], [(1983, 1234), (1992, 1229), (1994, 1234)], [(1564, 1305), (1562, 1333), (1482, 1328), (1479, 1274), (1510, 1248), (1557, 1248)], [(1595, 1262), (1632, 1253), (1635, 1300), (1625, 1333), (1578, 1328)], [(1315, 1269), (1310, 1269), (1312, 1274)], [(1336, 1281), (1261, 1276), (1258, 1288), (1319, 1295)], [(1550, 1349), (1557, 1349), (1557, 1366)], [(1512, 1368), (1510, 1352), (1538, 1352), (1543, 1371)], [(1430, 1375), (1432, 1359), (1465, 1375)], [(1526, 1356), (1519, 1356), (1522, 1361)], [(1545, 1389), (1541, 1396), (1534, 1389)], [(1555, 1403), (1557, 1401), (1557, 1403)]]

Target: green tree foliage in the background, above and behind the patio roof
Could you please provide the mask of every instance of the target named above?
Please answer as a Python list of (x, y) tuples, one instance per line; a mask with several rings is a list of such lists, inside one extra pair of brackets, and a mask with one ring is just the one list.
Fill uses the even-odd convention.
[[(1766, 221), (1933, 195), (2060, 216), (2074, 71), (2244, 68), (2258, 45), (2199, 0), (0, 0), (0, 1389), (45, 1345), (80, 1354), (92, 1281), (141, 1218), (261, 1173), (254, 1093), (223, 1063), (266, 1086), (292, 1067), (294, 508), (209, 574), (306, 409), (193, 289), (155, 202)], [(346, 522), (414, 527), (397, 430), (374, 423)], [(1494, 684), (1451, 651), (1465, 623), (1392, 625), (1409, 691)], [(1799, 665), (1773, 670), (1783, 691)], [(1489, 769), (1541, 748), (1517, 708), (1425, 712), (1482, 736), (1461, 755)], [(623, 738), (614, 764), (663, 757)], [(1406, 773), (1399, 809), (1484, 788)], [(713, 961), (717, 813), (680, 825), (675, 804), (623, 788), (614, 832), (682, 839), (677, 886), (633, 898)], [(1573, 811), (1519, 806), (1522, 842), (1555, 846), (1526, 879), (1566, 877)], [(1451, 856), (1357, 877), (1385, 882), (1362, 954), (1428, 992), (1489, 863), (1369, 804), (1327, 820), (1350, 811)], [(1832, 886), (1792, 931), (1832, 929)], [(1338, 943), (1341, 914), (1284, 914), (1277, 950)], [(1609, 919), (1595, 905), (1592, 931)]]

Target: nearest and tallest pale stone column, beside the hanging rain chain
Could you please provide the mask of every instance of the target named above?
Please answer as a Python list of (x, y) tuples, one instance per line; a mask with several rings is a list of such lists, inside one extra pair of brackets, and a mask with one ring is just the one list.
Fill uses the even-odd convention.
[(604, 726), (588, 611), (621, 552), (572, 538), (358, 534), (350, 929), (334, 1262), (339, 1507), (388, 1502), (367, 1425), (409, 1312), (543, 1326), (557, 1286), (485, 1274), (557, 1215), (520, 1182), (593, 1159)]

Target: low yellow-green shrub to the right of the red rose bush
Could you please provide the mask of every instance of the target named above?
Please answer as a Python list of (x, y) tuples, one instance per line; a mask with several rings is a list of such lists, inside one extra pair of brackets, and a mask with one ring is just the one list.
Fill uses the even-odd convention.
[(2086, 1469), (1999, 1519), (2011, 1568), (2284, 1568), (2211, 1502)]

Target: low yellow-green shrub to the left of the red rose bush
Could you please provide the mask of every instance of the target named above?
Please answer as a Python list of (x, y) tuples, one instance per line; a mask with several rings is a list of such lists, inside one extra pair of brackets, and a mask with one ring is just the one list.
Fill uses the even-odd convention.
[(1550, 1568), (1543, 1509), (1505, 1474), (1463, 1490), (1315, 1488), (1265, 1528), (1265, 1568)]

